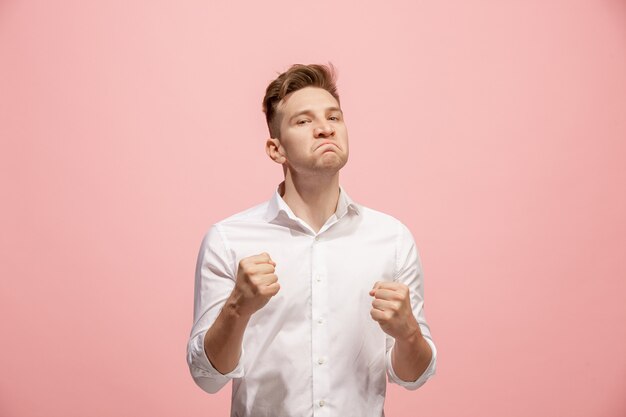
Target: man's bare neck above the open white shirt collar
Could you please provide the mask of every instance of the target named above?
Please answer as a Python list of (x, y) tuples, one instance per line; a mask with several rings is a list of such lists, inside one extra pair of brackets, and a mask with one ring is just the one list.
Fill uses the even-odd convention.
[(280, 194), (291, 211), (317, 233), (337, 210), (339, 172), (303, 177), (288, 170)]

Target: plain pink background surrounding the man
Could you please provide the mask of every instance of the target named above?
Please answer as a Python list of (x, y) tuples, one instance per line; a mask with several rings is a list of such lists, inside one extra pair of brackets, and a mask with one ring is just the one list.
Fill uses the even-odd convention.
[(626, 415), (624, 1), (4, 0), (1, 416), (228, 414), (185, 362), (199, 244), (282, 179), (267, 83), (328, 61), (439, 347), (388, 416)]

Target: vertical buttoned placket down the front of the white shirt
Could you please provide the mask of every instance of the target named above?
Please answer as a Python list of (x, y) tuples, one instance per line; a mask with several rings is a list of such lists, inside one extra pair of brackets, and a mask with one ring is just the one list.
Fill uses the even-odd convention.
[(332, 358), (328, 357), (328, 271), (324, 238), (319, 234), (311, 244), (311, 341), (313, 368), (313, 415), (329, 415), (330, 368)]

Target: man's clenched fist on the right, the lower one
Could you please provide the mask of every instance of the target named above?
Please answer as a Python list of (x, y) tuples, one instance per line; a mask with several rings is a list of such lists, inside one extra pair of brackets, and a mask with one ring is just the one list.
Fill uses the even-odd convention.
[(370, 291), (372, 318), (394, 339), (408, 340), (421, 330), (411, 310), (409, 287), (399, 282), (378, 281)]

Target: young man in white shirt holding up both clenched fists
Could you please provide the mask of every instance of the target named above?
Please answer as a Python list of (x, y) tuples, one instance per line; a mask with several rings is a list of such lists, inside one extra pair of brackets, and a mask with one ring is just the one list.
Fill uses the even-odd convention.
[(435, 373), (419, 255), (400, 221), (339, 185), (348, 131), (332, 66), (293, 65), (263, 100), (269, 201), (213, 225), (196, 268), (187, 362), (232, 416), (384, 415), (385, 376)]

